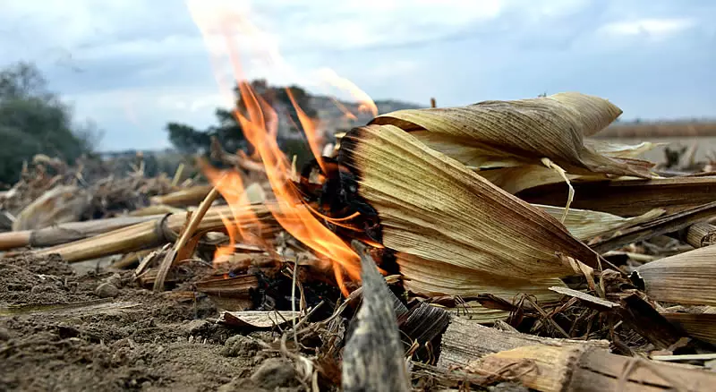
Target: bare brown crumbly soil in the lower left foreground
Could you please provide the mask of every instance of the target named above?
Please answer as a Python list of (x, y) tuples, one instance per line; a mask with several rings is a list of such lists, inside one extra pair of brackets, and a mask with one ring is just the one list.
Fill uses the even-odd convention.
[(300, 389), (257, 343), (277, 333), (217, 324), (208, 298), (154, 294), (131, 274), (0, 260), (0, 390)]

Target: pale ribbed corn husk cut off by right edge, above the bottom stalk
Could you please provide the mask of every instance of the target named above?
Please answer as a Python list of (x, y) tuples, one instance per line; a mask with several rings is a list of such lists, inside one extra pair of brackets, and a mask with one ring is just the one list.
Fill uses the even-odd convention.
[(636, 269), (652, 300), (716, 305), (716, 247), (706, 246), (652, 261)]

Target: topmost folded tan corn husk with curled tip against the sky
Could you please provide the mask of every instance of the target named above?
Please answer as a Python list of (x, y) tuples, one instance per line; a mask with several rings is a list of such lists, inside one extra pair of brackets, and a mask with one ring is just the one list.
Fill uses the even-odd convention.
[(577, 92), (467, 107), (399, 110), (371, 124), (391, 124), (473, 168), (536, 164), (549, 158), (570, 174), (651, 177), (647, 161), (600, 154), (584, 136), (601, 131), (622, 111)]

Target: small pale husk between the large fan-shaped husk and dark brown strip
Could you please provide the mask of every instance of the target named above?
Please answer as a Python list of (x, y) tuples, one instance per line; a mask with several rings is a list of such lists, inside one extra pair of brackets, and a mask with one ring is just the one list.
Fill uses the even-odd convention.
[[(545, 212), (557, 219), (562, 217), (565, 211), (565, 209), (561, 207), (541, 204), (534, 204), (534, 206), (544, 209)], [(567, 226), (569, 233), (582, 241), (586, 241), (600, 234), (623, 230), (631, 226), (649, 222), (652, 219), (661, 217), (664, 212), (666, 211), (663, 209), (652, 209), (638, 217), (618, 217), (606, 212), (590, 211), (588, 209), (569, 209), (564, 225)]]

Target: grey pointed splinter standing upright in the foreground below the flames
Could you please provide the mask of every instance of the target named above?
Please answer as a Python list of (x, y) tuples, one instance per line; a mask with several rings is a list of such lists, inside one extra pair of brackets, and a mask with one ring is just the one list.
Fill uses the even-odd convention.
[(343, 353), (343, 390), (409, 391), (393, 294), (364, 245), (353, 245), (361, 256), (362, 304)]

